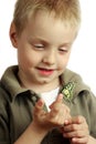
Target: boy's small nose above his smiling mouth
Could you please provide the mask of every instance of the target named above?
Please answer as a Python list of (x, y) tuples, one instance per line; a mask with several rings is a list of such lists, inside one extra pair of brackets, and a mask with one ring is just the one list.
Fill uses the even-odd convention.
[(50, 64), (50, 65), (53, 65), (55, 64), (56, 62), (56, 53), (55, 51), (46, 51), (44, 58), (43, 58), (43, 62), (46, 63), (46, 64)]

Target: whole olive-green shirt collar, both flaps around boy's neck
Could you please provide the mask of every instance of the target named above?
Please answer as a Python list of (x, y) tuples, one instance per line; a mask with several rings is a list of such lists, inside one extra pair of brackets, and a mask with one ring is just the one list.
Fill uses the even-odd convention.
[[(25, 93), (30, 91), (29, 89), (24, 89), (20, 85), (20, 82), (18, 79), (18, 71), (19, 71), (18, 65), (10, 66), (7, 69), (7, 71), (1, 78), (1, 83), (3, 88), (6, 89), (6, 91), (10, 92), (12, 99), (14, 99), (20, 93)], [(75, 84), (73, 95), (77, 95), (81, 91), (85, 91), (85, 90), (89, 91), (89, 88), (83, 83), (82, 78), (68, 69), (65, 70), (65, 72), (60, 76), (60, 79), (61, 79), (60, 91), (64, 89), (64, 85), (72, 82), (74, 82)], [(34, 92), (32, 91), (31, 93), (34, 94)]]

